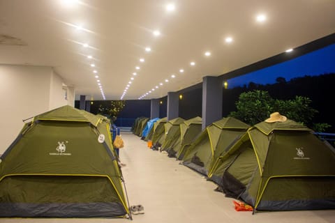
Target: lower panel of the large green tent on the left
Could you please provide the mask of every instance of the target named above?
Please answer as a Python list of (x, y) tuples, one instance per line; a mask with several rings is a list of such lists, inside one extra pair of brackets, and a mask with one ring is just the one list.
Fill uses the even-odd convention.
[(1, 217), (119, 217), (125, 214), (107, 177), (7, 176), (1, 180)]

